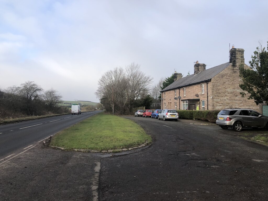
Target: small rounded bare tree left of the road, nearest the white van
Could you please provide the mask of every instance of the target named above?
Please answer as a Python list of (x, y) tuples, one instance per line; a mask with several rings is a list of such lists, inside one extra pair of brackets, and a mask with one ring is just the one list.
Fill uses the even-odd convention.
[(44, 99), (46, 105), (49, 106), (50, 111), (52, 111), (55, 106), (62, 103), (62, 96), (53, 88), (45, 91), (44, 94), (42, 94), (42, 98)]

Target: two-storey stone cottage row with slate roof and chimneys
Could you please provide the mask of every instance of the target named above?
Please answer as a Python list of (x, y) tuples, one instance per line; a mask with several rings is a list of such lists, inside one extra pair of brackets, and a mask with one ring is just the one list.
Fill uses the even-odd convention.
[(176, 110), (221, 110), (243, 107), (259, 111), (254, 100), (240, 95), (239, 66), (245, 64), (244, 49), (234, 46), (229, 62), (206, 69), (206, 64), (196, 61), (194, 74), (182, 77), (175, 72), (175, 81), (161, 92), (161, 108)]

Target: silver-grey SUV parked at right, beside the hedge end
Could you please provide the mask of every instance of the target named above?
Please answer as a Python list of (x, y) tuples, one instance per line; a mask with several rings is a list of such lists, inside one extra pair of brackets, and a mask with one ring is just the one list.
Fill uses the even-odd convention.
[(263, 127), (268, 130), (268, 117), (246, 108), (226, 108), (217, 115), (216, 124), (222, 129), (233, 128), (242, 131), (243, 127)]

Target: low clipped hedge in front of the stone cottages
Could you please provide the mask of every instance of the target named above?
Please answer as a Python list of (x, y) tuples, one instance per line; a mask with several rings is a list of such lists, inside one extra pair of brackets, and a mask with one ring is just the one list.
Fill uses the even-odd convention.
[(181, 119), (197, 119), (203, 121), (216, 122), (217, 114), (221, 110), (178, 110)]

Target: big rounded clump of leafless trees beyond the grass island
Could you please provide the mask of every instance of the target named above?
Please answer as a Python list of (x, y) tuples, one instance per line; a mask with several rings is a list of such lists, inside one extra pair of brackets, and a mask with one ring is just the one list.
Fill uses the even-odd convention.
[(115, 111), (129, 113), (140, 94), (148, 91), (151, 81), (150, 76), (140, 71), (140, 65), (131, 63), (125, 69), (117, 67), (102, 75), (95, 94), (104, 106), (109, 102)]

